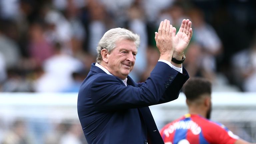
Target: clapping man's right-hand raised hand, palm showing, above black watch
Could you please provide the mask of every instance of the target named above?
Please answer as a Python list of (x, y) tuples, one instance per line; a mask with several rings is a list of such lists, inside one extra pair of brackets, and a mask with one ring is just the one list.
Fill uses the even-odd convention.
[[(187, 48), (191, 37), (192, 37), (192, 28), (191, 28), (191, 21), (189, 19), (183, 19), (180, 29), (178, 33), (173, 36), (173, 46), (174, 46), (174, 53), (173, 57), (176, 59), (182, 59), (182, 55), (184, 50)], [(176, 29), (173, 28), (174, 34), (176, 33)]]

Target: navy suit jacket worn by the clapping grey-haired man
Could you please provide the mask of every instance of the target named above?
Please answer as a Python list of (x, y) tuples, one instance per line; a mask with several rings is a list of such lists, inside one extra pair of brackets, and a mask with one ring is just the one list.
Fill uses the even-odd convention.
[(116, 76), (91, 65), (78, 93), (78, 116), (88, 144), (164, 144), (150, 105), (178, 98), (189, 78), (158, 62), (144, 83), (129, 76), (127, 86)]

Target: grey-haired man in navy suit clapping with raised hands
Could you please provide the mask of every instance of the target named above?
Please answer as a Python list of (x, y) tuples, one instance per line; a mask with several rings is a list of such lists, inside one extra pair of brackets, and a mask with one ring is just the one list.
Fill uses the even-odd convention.
[(192, 37), (191, 21), (176, 34), (170, 21), (155, 32), (160, 58), (144, 83), (135, 83), (133, 69), (139, 36), (123, 28), (107, 31), (97, 47), (97, 62), (78, 94), (78, 116), (89, 144), (163, 144), (148, 106), (178, 98), (189, 78), (182, 67)]

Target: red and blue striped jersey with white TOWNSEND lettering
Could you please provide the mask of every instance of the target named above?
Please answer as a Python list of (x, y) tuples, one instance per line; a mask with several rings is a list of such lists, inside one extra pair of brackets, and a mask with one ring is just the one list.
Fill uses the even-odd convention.
[(224, 125), (196, 114), (165, 125), (160, 134), (165, 144), (234, 144), (239, 138)]

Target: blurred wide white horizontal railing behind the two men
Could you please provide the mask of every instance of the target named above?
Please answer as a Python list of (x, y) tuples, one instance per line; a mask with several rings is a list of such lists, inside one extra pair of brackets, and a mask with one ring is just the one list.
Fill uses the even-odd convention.
[[(212, 120), (230, 127), (246, 129), (251, 141), (256, 137), (256, 93), (214, 92)], [(78, 121), (77, 93), (0, 93), (0, 119), (11, 123), (16, 118)], [(185, 96), (165, 104), (150, 106), (159, 129), (187, 113)], [(243, 137), (243, 136), (240, 136)]]

